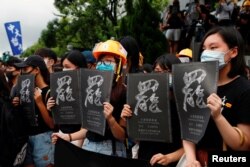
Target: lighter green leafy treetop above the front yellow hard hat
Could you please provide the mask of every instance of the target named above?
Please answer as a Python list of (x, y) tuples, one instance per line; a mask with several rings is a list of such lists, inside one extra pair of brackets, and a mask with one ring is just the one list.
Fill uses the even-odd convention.
[(71, 43), (76, 47), (92, 48), (96, 42), (115, 36), (123, 13), (119, 0), (55, 0), (54, 4), (62, 17), (71, 20)]

